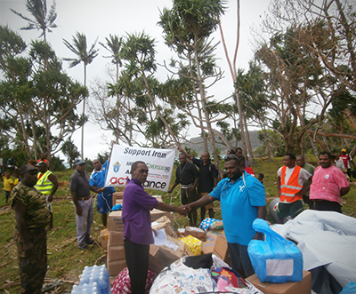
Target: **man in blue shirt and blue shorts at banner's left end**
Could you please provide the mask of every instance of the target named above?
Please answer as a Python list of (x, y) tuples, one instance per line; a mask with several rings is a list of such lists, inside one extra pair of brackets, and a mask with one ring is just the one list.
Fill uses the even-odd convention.
[[(105, 179), (108, 173), (109, 161), (103, 165), (98, 159), (93, 160), (93, 171), (89, 179), (89, 185), (93, 187), (105, 187)], [(104, 192), (98, 194), (96, 208), (101, 214), (101, 222), (104, 227), (107, 226), (108, 212), (112, 209), (112, 194), (115, 193), (114, 187), (106, 187)]]

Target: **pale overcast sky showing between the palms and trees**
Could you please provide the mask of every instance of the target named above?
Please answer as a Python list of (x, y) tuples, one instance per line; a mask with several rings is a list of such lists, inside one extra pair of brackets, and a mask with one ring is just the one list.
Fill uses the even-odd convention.
[[(51, 0), (47, 1), (48, 10), (52, 3)], [(250, 28), (252, 26), (258, 28), (262, 22), (264, 13), (268, 10), (269, 3), (270, 0), (241, 1), (238, 68), (247, 68), (248, 60), (251, 60), (253, 57), (253, 38)], [(157, 25), (159, 11), (163, 10), (164, 7), (170, 8), (172, 6), (169, 0), (57, 0), (56, 4), (58, 17), (55, 23), (58, 28), (54, 28), (53, 33), (47, 35), (47, 41), (52, 44), (54, 51), (60, 58), (76, 57), (74, 53), (70, 52), (63, 44), (62, 39), (66, 39), (71, 43), (72, 36), (74, 36), (77, 31), (86, 35), (89, 46), (95, 42), (97, 37), (99, 37), (99, 42), (105, 43), (105, 37), (108, 37), (109, 34), (125, 36), (126, 33), (139, 33), (144, 30), (157, 41), (158, 63), (162, 64), (163, 60), (169, 60), (174, 56), (174, 52), (170, 52), (164, 44), (162, 28)], [(225, 41), (232, 59), (237, 34), (236, 2), (228, 1), (227, 6), (228, 9), (222, 18), (222, 23)], [(40, 35), (39, 31), (20, 30), (21, 27), (27, 25), (27, 21), (20, 19), (19, 16), (12, 13), (10, 8), (30, 17), (26, 11), (24, 0), (0, 0), (0, 24), (8, 25), (17, 31), (28, 43), (32, 39), (38, 38)], [(32, 17), (30, 18), (32, 19)], [(214, 34), (214, 40), (216, 42), (221, 41), (219, 32)], [(100, 48), (99, 56), (87, 67), (87, 85), (90, 85), (96, 77), (100, 77), (102, 80), (109, 79), (106, 74), (109, 59), (102, 57), (107, 56), (108, 52), (99, 44), (97, 48)], [(225, 72), (225, 78), (211, 90), (212, 92), (208, 92), (208, 94), (214, 94), (216, 99), (223, 99), (231, 95), (233, 89), (222, 44), (219, 44), (217, 48), (216, 57), (218, 59), (218, 65)], [(63, 68), (70, 76), (80, 83), (83, 83), (83, 64), (77, 65), (75, 68), (69, 68), (68, 62), (63, 61)], [(162, 69), (158, 71), (158, 76), (159, 75), (163, 82), (166, 78), (166, 72)], [(77, 109), (79, 113), (81, 113), (82, 107), (79, 106)], [(198, 135), (198, 131), (192, 129), (190, 134), (196, 136)], [(72, 139), (77, 145), (78, 150), (80, 150), (81, 132), (76, 131)], [(109, 131), (101, 131), (93, 122), (86, 124), (85, 157), (93, 159), (98, 153), (107, 150), (111, 139), (113, 139), (113, 137)], [(61, 155), (61, 158), (64, 159), (64, 156)]]

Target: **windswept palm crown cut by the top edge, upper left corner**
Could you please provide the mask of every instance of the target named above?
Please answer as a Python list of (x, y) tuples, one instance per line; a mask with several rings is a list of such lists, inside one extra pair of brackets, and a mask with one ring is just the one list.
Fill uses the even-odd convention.
[(21, 29), (40, 29), (44, 36), (44, 41), (46, 41), (45, 33), (48, 31), (52, 32), (50, 28), (57, 28), (54, 20), (57, 18), (57, 12), (55, 12), (56, 3), (53, 0), (50, 11), (47, 13), (47, 2), (46, 0), (25, 0), (26, 10), (32, 14), (34, 19), (29, 19), (28, 17), (22, 15), (20, 12), (15, 12), (13, 9), (11, 11), (16, 15), (20, 16), (21, 19), (28, 21), (28, 26)]

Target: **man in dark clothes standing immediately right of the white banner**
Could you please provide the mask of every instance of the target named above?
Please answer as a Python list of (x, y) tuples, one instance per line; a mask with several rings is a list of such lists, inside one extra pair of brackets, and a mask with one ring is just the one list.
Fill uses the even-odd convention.
[[(196, 191), (199, 181), (198, 169), (193, 163), (188, 163), (186, 155), (182, 153), (179, 155), (179, 162), (181, 164), (175, 171), (174, 185), (168, 190), (168, 193), (172, 193), (174, 187), (181, 184), (181, 203), (186, 205), (198, 200)], [(190, 219), (190, 226), (197, 226), (197, 210), (191, 210), (188, 213), (188, 218)]]

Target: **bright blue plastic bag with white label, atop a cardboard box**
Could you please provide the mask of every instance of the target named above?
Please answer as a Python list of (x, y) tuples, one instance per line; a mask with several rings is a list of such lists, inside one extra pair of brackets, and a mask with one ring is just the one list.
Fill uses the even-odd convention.
[(261, 282), (299, 282), (303, 280), (303, 254), (294, 242), (274, 232), (263, 219), (255, 219), (255, 231), (266, 240), (251, 240), (248, 255)]

